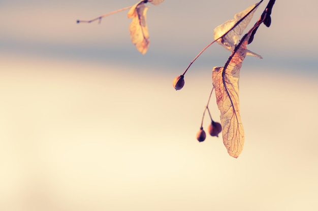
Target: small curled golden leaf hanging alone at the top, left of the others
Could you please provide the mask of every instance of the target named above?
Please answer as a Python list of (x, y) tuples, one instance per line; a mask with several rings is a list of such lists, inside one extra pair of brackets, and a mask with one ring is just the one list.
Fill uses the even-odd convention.
[(145, 54), (149, 47), (149, 33), (146, 23), (146, 12), (144, 1), (134, 5), (128, 12), (128, 18), (133, 18), (129, 26), (130, 37), (137, 50)]

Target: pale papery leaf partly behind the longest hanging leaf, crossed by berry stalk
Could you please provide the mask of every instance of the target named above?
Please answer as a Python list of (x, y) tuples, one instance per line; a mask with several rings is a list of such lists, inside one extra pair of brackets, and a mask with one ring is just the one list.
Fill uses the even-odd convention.
[[(250, 6), (242, 12), (235, 14), (234, 19), (228, 20), (225, 23), (217, 26), (214, 29), (214, 39), (216, 42), (227, 50), (233, 51), (235, 44), (240, 38), (240, 35), (242, 35), (243, 31), (251, 21), (256, 9), (262, 2), (263, 0), (255, 5)], [(248, 51), (247, 55), (262, 58), (260, 55), (251, 51)]]

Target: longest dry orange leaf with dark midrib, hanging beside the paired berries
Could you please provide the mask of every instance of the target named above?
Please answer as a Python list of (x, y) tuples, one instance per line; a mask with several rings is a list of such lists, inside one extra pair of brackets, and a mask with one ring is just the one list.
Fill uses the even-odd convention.
[(244, 37), (225, 66), (214, 67), (212, 70), (216, 103), (220, 110), (223, 143), (232, 157), (238, 157), (244, 145), (244, 130), (239, 111), (239, 75), (247, 52), (249, 34)]

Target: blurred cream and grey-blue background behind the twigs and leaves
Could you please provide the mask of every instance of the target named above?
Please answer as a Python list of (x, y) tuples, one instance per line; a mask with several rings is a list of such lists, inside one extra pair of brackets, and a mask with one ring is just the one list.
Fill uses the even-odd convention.
[[(276, 1), (240, 73), (245, 145), (198, 143), (213, 29), (251, 0), (150, 6), (150, 47), (130, 41), (131, 0), (0, 2), (0, 210), (317, 210), (318, 3)], [(252, 26), (268, 1), (251, 21)], [(214, 94), (210, 102), (219, 121)], [(204, 129), (210, 123), (206, 116)]]

